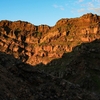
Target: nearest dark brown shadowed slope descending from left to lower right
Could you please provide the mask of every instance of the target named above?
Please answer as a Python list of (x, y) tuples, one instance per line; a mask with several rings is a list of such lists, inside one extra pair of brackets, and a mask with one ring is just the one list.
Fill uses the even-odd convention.
[(0, 52), (0, 100), (67, 99), (99, 100), (99, 95)]

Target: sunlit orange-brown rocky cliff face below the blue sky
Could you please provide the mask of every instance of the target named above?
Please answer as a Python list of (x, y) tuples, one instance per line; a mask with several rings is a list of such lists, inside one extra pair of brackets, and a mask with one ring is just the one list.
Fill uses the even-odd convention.
[(0, 51), (31, 65), (47, 64), (81, 43), (100, 39), (100, 16), (61, 19), (55, 26), (35, 26), (23, 21), (0, 22)]

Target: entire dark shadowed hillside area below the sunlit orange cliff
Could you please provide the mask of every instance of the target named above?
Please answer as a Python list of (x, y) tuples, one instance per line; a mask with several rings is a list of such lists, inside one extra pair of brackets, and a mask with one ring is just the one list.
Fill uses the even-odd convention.
[(99, 40), (35, 67), (0, 52), (0, 100), (100, 100), (99, 66)]

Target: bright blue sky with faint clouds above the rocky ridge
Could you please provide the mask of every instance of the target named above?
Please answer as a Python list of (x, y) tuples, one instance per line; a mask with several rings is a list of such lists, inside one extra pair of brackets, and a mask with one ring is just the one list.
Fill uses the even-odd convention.
[(53, 26), (61, 18), (100, 15), (100, 0), (0, 0), (0, 20)]

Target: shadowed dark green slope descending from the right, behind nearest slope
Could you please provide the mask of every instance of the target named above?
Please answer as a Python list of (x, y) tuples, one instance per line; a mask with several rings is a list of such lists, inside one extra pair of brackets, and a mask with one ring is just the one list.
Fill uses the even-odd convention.
[(83, 89), (100, 93), (100, 40), (76, 46), (62, 58), (38, 67)]

